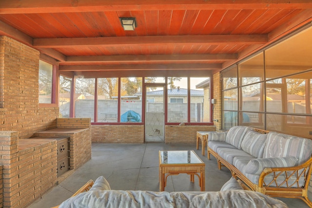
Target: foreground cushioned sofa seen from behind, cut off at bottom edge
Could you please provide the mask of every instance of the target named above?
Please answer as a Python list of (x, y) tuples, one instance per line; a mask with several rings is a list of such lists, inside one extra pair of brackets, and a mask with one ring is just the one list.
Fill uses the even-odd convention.
[(92, 185), (90, 180), (55, 208), (287, 208), (279, 200), (242, 189), (234, 178), (221, 191), (207, 192), (111, 190), (103, 176)]

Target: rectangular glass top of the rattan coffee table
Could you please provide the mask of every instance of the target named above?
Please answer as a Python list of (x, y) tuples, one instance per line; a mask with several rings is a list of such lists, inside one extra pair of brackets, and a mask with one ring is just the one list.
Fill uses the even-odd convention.
[(193, 150), (159, 151), (161, 164), (197, 164), (203, 163)]

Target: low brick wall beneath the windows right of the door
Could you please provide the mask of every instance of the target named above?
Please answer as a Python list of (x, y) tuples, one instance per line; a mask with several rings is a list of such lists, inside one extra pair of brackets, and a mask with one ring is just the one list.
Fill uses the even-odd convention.
[(215, 131), (215, 126), (165, 126), (165, 143), (195, 145), (198, 131)]

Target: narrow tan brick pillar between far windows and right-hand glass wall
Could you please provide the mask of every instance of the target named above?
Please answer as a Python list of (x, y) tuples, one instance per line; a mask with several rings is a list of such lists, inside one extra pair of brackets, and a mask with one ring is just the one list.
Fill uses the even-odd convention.
[(213, 97), (216, 99), (216, 103), (214, 105), (213, 110), (213, 119), (216, 119), (218, 121), (214, 121), (214, 125), (216, 128), (216, 131), (219, 131), (222, 129), (222, 98), (221, 98), (221, 79), (220, 79), (220, 72), (217, 72), (213, 76)]

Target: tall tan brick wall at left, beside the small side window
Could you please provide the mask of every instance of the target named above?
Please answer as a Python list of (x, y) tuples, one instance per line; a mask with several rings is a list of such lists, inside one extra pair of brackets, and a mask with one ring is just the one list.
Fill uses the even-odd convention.
[(39, 52), (1, 36), (0, 72), (0, 131), (29, 138), (55, 128), (59, 108), (39, 107)]

